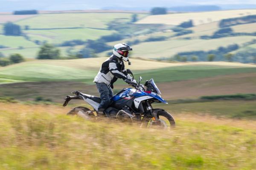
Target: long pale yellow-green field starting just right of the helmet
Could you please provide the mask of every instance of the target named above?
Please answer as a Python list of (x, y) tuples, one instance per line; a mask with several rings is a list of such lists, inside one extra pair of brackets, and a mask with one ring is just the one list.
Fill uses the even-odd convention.
[[(142, 58), (168, 58), (177, 54), (178, 52), (186, 51), (208, 51), (214, 50), (220, 46), (227, 46), (234, 43), (239, 45), (244, 42), (255, 39), (254, 36), (239, 36), (239, 37), (224, 37), (218, 39), (202, 40), (168, 40), (168, 41), (156, 41), (156, 42), (143, 42), (138, 45), (133, 45), (134, 57)], [(145, 51), (147, 51), (145, 53)], [(104, 55), (104, 54), (102, 54)]]

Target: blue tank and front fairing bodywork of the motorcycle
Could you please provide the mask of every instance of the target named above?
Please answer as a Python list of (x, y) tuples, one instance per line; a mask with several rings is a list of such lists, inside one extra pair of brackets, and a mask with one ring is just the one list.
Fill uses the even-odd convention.
[(160, 95), (157, 95), (155, 93), (146, 93), (144, 91), (139, 91), (134, 88), (127, 88), (125, 91), (123, 91), (121, 94), (118, 94), (116, 96), (113, 96), (111, 99), (116, 102), (119, 99), (126, 98), (131, 99), (134, 97), (141, 97), (141, 96), (151, 96), (160, 102), (168, 104)]

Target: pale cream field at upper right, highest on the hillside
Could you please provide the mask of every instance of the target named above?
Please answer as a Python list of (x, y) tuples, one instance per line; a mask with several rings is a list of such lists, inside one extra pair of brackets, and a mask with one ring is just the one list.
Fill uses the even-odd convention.
[(139, 20), (137, 23), (179, 25), (184, 21), (193, 20), (194, 25), (197, 26), (226, 18), (242, 17), (253, 14), (256, 14), (255, 9), (150, 15), (142, 20)]

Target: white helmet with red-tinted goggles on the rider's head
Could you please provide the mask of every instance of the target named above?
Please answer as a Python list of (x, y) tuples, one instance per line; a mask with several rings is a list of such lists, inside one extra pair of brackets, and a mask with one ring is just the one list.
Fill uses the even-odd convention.
[(122, 43), (113, 46), (113, 54), (124, 61), (129, 61), (128, 53), (132, 51), (129, 45)]

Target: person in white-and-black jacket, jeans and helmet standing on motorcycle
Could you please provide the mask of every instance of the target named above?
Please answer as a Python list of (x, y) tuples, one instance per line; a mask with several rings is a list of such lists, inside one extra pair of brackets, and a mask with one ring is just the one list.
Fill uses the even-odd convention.
[(103, 114), (111, 102), (113, 83), (116, 82), (118, 78), (132, 80), (131, 76), (127, 74), (123, 62), (129, 62), (129, 51), (132, 51), (132, 48), (125, 43), (114, 45), (113, 55), (102, 63), (99, 73), (93, 80), (93, 82), (96, 82), (96, 87), (101, 98), (101, 103), (98, 108), (99, 114)]

